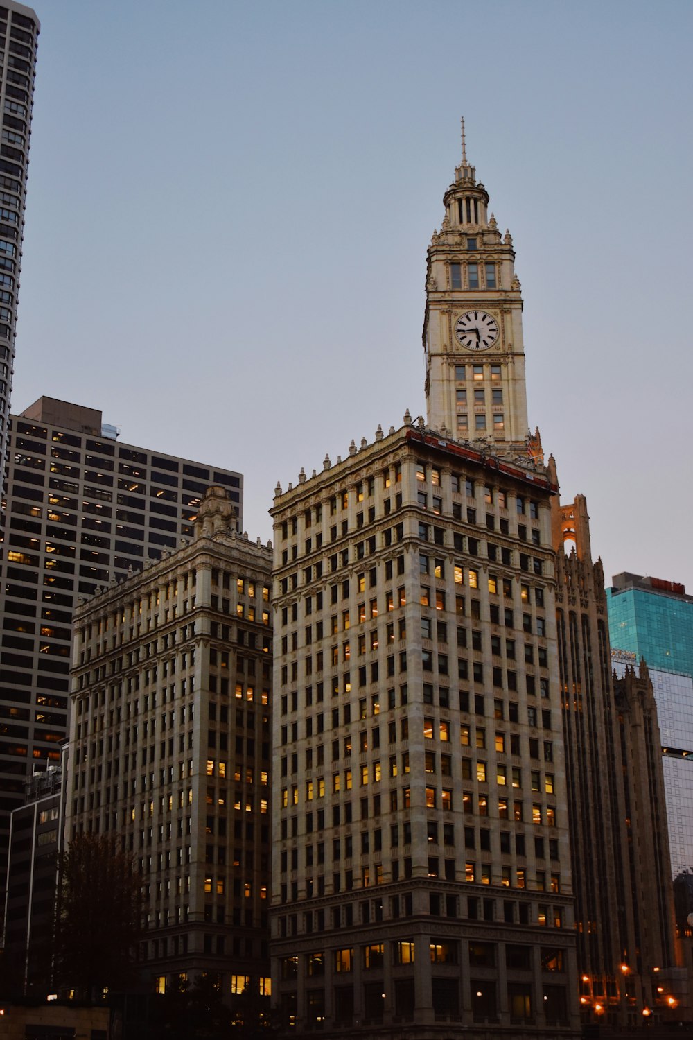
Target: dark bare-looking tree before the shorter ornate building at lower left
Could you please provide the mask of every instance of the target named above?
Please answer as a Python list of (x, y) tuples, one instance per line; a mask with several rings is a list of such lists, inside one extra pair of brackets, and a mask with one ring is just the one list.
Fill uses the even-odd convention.
[(60, 857), (58, 983), (94, 996), (126, 988), (141, 934), (141, 878), (117, 837), (79, 834)]

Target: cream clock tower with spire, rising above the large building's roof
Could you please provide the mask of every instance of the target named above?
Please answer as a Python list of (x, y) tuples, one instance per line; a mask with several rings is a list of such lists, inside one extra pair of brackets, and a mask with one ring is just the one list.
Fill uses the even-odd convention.
[(488, 192), (462, 158), (446, 191), (441, 231), (428, 246), (428, 425), (455, 440), (485, 440), (497, 453), (527, 453), (523, 300), (512, 238), (488, 215)]

